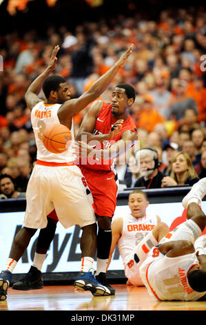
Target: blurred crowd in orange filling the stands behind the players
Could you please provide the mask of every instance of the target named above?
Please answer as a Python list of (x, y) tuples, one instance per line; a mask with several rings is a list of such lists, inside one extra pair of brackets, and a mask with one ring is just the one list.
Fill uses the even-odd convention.
[[(206, 159), (201, 160), (206, 143), (205, 6), (169, 7), (155, 0), (0, 3), (0, 173), (10, 174), (19, 192), (25, 192), (36, 160), (24, 94), (48, 65), (56, 44), (60, 50), (54, 73), (65, 77), (72, 97), (78, 97), (133, 43), (132, 55), (101, 99), (110, 102), (119, 82), (134, 86), (136, 102), (130, 115), (141, 146), (158, 150), (160, 169), (169, 167), (172, 158), (166, 147), (172, 142), (176, 146), (170, 149), (189, 154), (199, 177), (206, 170)], [(74, 116), (75, 132), (87, 109)], [(199, 141), (194, 140), (196, 129)], [(133, 158), (125, 166), (134, 167)], [(131, 187), (125, 169), (118, 163), (116, 169), (120, 180)], [(134, 177), (138, 178), (135, 170)]]

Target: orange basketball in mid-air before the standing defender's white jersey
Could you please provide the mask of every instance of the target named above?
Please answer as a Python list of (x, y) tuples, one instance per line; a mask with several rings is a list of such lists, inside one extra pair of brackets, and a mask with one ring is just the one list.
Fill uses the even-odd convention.
[(61, 154), (70, 147), (72, 134), (62, 124), (52, 124), (43, 132), (43, 145), (53, 154)]

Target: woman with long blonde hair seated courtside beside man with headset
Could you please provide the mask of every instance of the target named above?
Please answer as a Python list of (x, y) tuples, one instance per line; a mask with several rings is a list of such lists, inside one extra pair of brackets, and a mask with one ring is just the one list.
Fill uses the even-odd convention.
[(171, 176), (165, 176), (161, 187), (189, 185), (198, 182), (199, 178), (192, 165), (192, 160), (185, 152), (178, 152), (171, 161)]

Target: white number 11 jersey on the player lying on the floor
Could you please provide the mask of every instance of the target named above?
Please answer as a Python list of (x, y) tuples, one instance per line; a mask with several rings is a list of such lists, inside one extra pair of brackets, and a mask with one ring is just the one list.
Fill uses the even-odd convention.
[[(152, 250), (149, 254), (152, 254)], [(164, 260), (161, 263), (160, 260)], [(159, 254), (150, 264), (147, 272), (147, 288), (150, 295), (161, 300), (197, 300), (205, 293), (192, 290), (187, 282), (187, 272), (198, 264), (196, 252), (179, 257), (165, 257)]]

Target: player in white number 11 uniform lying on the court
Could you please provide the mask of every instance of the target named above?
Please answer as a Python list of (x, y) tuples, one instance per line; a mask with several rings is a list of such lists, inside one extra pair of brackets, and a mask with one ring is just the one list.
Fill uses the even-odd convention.
[(205, 236), (200, 236), (205, 225), (206, 216), (198, 204), (189, 203), (187, 221), (168, 232), (159, 245), (150, 250), (141, 265), (140, 275), (154, 299), (205, 299)]

